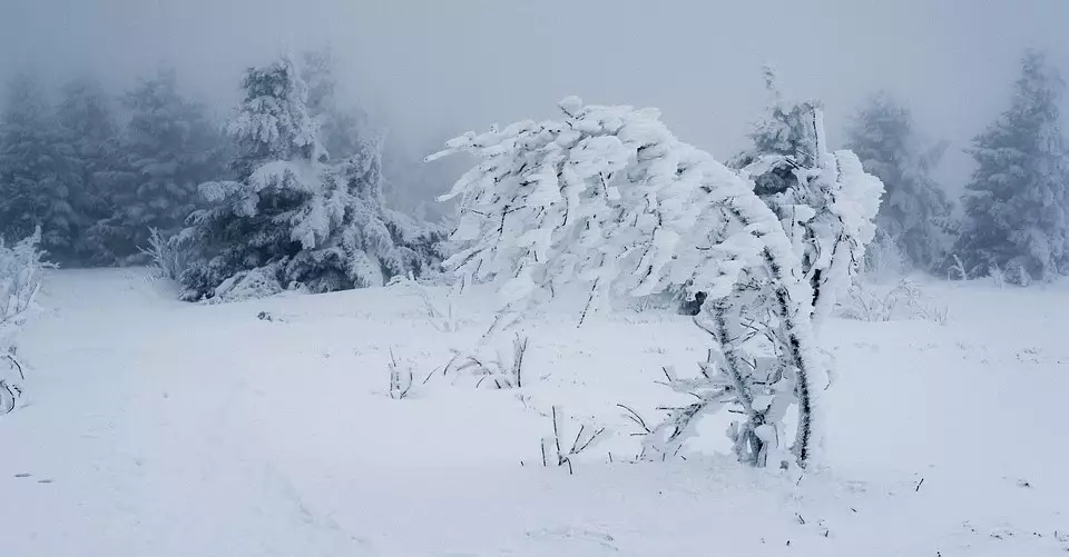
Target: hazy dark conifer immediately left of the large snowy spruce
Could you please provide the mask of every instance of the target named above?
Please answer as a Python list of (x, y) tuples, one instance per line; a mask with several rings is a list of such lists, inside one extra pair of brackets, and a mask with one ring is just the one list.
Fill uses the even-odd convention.
[(136, 260), (150, 230), (165, 237), (198, 207), (197, 186), (225, 176), (222, 138), (205, 108), (185, 99), (174, 70), (141, 79), (122, 99), (130, 119), (118, 140), (120, 165), (110, 172), (110, 215), (89, 233), (100, 257)]

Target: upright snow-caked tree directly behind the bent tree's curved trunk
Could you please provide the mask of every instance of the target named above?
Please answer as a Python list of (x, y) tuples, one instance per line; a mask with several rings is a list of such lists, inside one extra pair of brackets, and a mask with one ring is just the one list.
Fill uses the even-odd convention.
[(820, 102), (786, 100), (768, 68), (765, 78), (773, 102), (751, 133), (753, 147), (729, 166), (754, 180), (783, 223), (813, 289), (820, 326), (860, 269), (883, 186), (852, 151), (827, 150)]

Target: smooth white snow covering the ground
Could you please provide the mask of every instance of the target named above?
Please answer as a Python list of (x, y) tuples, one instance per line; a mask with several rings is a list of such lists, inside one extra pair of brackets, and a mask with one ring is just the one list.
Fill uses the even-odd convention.
[[(524, 387), (490, 390), (435, 371), (487, 325), (479, 295), (442, 332), (402, 288), (196, 306), (143, 270), (57, 271), (0, 417), (0, 555), (1066, 555), (1069, 288), (925, 289), (947, 325), (826, 326), (830, 469), (794, 484), (627, 461), (616, 405), (656, 420), (660, 367), (704, 356), (684, 317), (550, 315)], [(541, 467), (552, 406), (563, 435), (608, 428), (573, 475)]]

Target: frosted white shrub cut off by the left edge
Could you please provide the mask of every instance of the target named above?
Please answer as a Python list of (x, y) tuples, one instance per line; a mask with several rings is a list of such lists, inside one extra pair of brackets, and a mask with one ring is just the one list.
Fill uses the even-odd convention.
[(40, 241), (40, 230), (11, 246), (0, 239), (0, 414), (13, 410), (22, 396), (26, 370), (17, 341), (47, 266)]

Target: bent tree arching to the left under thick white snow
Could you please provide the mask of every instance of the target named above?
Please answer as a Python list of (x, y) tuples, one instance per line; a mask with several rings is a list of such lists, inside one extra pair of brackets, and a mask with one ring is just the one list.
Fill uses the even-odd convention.
[[(429, 157), (480, 159), (443, 196), (459, 197), (461, 213), (451, 237), (458, 251), (445, 267), (465, 282), (500, 286), (488, 335), (576, 282), (590, 287), (583, 316), (612, 296), (705, 292), (696, 322), (714, 350), (699, 378), (673, 377), (698, 401), (650, 434), (647, 456), (674, 454), (694, 418), (727, 407), (745, 416), (730, 431), (741, 460), (804, 467), (820, 445), (827, 376), (812, 334), (813, 289), (779, 217), (753, 182), (676, 139), (657, 110), (577, 98), (560, 109), (562, 120), (469, 132)], [(820, 123), (817, 115), (811, 125)], [(872, 235), (879, 181), (847, 153), (820, 157), (825, 166), (804, 175), (833, 190), (820, 207), (831, 217), (818, 222), (838, 235), (833, 249), (856, 257)], [(806, 221), (816, 217), (811, 210)], [(834, 272), (845, 271), (826, 275)], [(792, 406), (793, 446), (784, 426)]]

